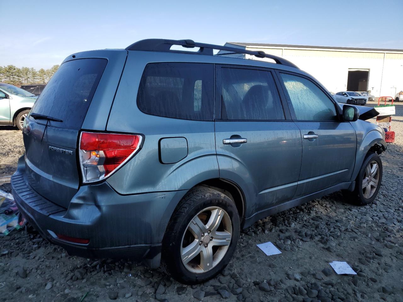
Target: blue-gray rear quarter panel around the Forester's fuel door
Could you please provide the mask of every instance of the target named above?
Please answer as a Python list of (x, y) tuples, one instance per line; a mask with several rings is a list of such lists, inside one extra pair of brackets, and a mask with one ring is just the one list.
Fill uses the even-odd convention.
[[(106, 130), (144, 134), (144, 142), (135, 157), (107, 182), (120, 194), (136, 194), (187, 190), (204, 180), (218, 178), (214, 122), (153, 116), (137, 107), (137, 91), (145, 65), (177, 61), (164, 59), (160, 53), (138, 54), (129, 52)], [(164, 164), (159, 154), (160, 140), (170, 137), (184, 137), (188, 154), (177, 163)]]

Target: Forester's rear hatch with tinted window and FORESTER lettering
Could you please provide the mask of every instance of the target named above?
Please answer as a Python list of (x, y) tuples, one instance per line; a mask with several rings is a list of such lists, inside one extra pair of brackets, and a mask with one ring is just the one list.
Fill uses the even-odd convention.
[[(80, 185), (77, 144), (87, 112), (98, 112), (97, 107), (103, 106), (106, 114), (99, 115), (103, 121), (98, 120), (98, 128), (91, 129), (105, 130), (125, 58), (126, 55), (124, 60), (114, 62), (121, 64), (120, 72), (114, 72), (116, 67), (111, 70), (107, 58), (66, 59), (26, 119), (23, 136), (27, 181), (36, 192), (62, 207), (69, 206)], [(117, 74), (117, 80), (105, 79)], [(114, 89), (109, 89), (109, 107), (107, 103), (105, 106), (107, 85), (114, 85)], [(105, 93), (100, 95), (100, 90)], [(95, 109), (91, 110), (90, 105)]]

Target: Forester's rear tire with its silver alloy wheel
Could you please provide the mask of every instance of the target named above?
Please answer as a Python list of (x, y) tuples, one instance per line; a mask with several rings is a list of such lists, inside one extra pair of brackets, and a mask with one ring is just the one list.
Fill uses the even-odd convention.
[(161, 267), (178, 282), (206, 282), (229, 263), (239, 233), (235, 203), (221, 192), (197, 186), (183, 197), (168, 223), (162, 240)]

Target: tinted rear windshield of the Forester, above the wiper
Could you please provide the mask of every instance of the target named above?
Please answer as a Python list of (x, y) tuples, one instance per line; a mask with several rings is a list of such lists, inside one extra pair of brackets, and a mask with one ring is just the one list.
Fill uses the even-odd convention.
[(62, 120), (49, 121), (52, 126), (81, 129), (107, 62), (106, 59), (79, 59), (63, 63), (31, 112)]

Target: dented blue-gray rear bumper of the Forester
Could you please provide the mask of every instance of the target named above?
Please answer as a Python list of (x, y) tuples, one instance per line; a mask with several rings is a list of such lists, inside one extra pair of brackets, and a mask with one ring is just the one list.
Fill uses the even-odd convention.
[[(185, 194), (120, 195), (103, 182), (81, 186), (66, 209), (33, 190), (25, 177), (23, 157), (11, 186), (20, 211), (44, 238), (69, 254), (87, 258), (158, 259), (166, 226)], [(61, 240), (56, 234), (89, 243)]]

